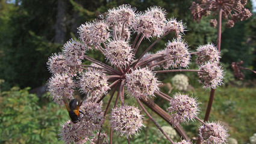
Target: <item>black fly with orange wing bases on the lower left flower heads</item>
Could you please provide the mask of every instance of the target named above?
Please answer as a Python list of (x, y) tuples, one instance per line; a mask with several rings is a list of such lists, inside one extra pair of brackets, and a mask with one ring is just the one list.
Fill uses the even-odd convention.
[[(80, 113), (83, 113), (79, 109), (80, 109), (81, 104), (84, 101), (84, 98), (82, 101), (81, 101), (81, 98), (79, 98), (79, 97), (73, 98), (73, 100), (71, 100), (69, 103), (68, 103), (68, 101), (69, 100), (67, 100), (67, 97), (65, 95), (63, 95), (63, 102), (66, 106), (67, 112), (69, 112), (69, 118), (75, 124), (80, 120)], [(83, 115), (84, 115), (84, 113), (83, 113)]]

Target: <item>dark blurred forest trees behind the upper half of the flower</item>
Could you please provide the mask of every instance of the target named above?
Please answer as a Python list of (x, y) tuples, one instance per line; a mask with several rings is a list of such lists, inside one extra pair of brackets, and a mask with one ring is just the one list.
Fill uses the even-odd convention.
[[(51, 53), (59, 52), (70, 38), (77, 38), (77, 28), (82, 23), (94, 20), (96, 11), (104, 13), (109, 8), (126, 4), (126, 1), (82, 0), (1, 0), (0, 7), (0, 78), (5, 80), (2, 89), (12, 86), (36, 88), (49, 79), (46, 62)], [(137, 10), (158, 5), (166, 9), (167, 17), (183, 20), (189, 31), (184, 38), (190, 49), (200, 44), (215, 43), (216, 29), (211, 28), (205, 17), (200, 23), (192, 20), (189, 7), (192, 1), (157, 0), (129, 2)], [(248, 1), (251, 10), (251, 3)], [(222, 62), (230, 68), (231, 62), (244, 61), (244, 66), (255, 70), (255, 15), (237, 23), (234, 28), (224, 29), (222, 37)], [(170, 35), (171, 36), (171, 35)], [(156, 47), (163, 48), (171, 37), (166, 37)], [(142, 44), (142, 52), (149, 43)], [(153, 51), (157, 51), (154, 49)], [(101, 59), (100, 53), (92, 52)], [(91, 55), (91, 56), (92, 56)], [(255, 75), (246, 73), (246, 79)]]

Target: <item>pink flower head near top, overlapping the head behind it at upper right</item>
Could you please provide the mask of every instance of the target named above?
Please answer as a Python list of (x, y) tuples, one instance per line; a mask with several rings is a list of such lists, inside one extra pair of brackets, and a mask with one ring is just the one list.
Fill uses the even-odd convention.
[(138, 34), (143, 34), (145, 38), (160, 37), (163, 34), (163, 28), (152, 14), (140, 13), (133, 23), (133, 29)]

